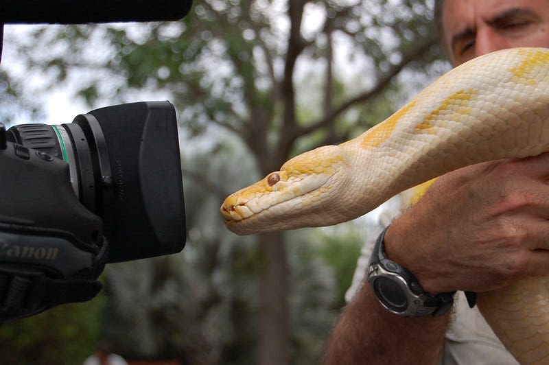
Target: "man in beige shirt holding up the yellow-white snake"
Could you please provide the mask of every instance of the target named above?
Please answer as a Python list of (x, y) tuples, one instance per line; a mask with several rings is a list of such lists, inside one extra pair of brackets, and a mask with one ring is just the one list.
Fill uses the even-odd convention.
[[(454, 66), (497, 49), (549, 47), (548, 0), (438, 0), (435, 9)], [(431, 294), (485, 292), (546, 276), (548, 180), (549, 154), (446, 174), (390, 224), (386, 255)], [(366, 267), (358, 270), (364, 276)], [(402, 318), (379, 305), (366, 283), (334, 328), (325, 362), (516, 364), (462, 294), (453, 316)]]

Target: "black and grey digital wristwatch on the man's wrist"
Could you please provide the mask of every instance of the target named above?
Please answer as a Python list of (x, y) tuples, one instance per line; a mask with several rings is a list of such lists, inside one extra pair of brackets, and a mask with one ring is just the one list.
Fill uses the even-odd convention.
[(402, 317), (445, 314), (454, 304), (455, 292), (429, 294), (410, 271), (390, 261), (384, 249), (387, 228), (377, 237), (368, 268), (368, 281), (379, 303)]

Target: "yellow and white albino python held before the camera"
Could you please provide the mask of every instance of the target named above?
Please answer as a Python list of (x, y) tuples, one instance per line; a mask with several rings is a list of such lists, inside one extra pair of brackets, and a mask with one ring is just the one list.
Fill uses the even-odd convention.
[[(549, 49), (506, 49), (452, 69), (359, 137), (292, 158), (226, 198), (221, 212), (240, 235), (328, 226), (459, 167), (546, 151)], [(479, 295), (523, 364), (549, 364), (548, 289), (549, 279), (525, 279)]]

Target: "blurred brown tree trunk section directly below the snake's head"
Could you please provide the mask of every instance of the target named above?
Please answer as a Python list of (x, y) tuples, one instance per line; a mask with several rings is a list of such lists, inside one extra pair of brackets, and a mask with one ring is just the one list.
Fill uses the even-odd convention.
[(286, 249), (281, 232), (261, 235), (264, 272), (261, 277), (260, 365), (285, 365), (288, 356)]

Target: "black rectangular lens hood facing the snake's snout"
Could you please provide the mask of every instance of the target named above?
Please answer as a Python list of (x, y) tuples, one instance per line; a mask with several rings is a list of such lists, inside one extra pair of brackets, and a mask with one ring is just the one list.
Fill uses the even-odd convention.
[[(101, 126), (112, 174), (110, 179), (95, 176), (104, 191), (112, 189), (110, 198), (104, 196), (110, 207), (103, 209), (110, 213), (103, 217), (110, 241), (108, 261), (183, 250), (185, 207), (174, 106), (139, 102), (96, 109), (89, 115)], [(74, 123), (83, 126), (85, 120), (86, 115), (78, 116)]]

